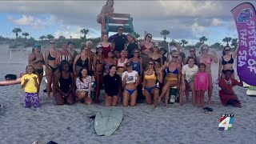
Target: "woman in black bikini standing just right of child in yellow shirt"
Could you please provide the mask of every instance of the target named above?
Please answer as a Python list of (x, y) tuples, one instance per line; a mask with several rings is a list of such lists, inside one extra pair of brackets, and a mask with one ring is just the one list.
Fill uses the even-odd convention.
[(55, 47), (55, 41), (50, 41), (50, 49), (46, 51), (46, 78), (47, 78), (47, 96), (50, 98), (51, 85), (54, 82), (54, 74), (58, 70), (58, 66), (56, 62), (56, 56), (58, 54), (58, 50)]

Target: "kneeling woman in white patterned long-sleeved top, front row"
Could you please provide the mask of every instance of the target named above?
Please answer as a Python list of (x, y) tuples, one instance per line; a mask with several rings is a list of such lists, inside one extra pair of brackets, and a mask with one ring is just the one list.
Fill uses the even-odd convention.
[(90, 98), (91, 91), (91, 76), (88, 75), (89, 70), (87, 68), (82, 68), (79, 72), (79, 77), (76, 78), (76, 96), (78, 98), (78, 102), (85, 102), (87, 105), (92, 103)]

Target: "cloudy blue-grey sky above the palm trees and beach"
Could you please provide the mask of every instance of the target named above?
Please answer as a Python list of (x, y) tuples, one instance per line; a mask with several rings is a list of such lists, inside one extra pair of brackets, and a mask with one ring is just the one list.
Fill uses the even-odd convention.
[[(187, 39), (198, 42), (203, 35), (210, 44), (222, 42), (226, 36), (237, 38), (230, 12), (242, 2), (255, 1), (114, 1), (114, 13), (130, 14), (134, 30), (144, 30), (162, 40), (161, 30), (170, 30), (167, 40)], [(80, 38), (82, 28), (89, 29), (87, 38), (100, 36), (96, 18), (106, 1), (14, 1), (0, 2), (0, 35), (12, 37), (14, 27), (32, 37), (43, 34)], [(255, 5), (254, 5), (255, 6)]]

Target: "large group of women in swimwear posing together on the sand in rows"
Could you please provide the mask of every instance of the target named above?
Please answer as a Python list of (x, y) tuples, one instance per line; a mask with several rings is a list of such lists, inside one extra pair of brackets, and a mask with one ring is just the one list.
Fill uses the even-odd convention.
[[(29, 56), (29, 64), (37, 70), (39, 86), (42, 65), (46, 65), (47, 96), (50, 98), (52, 92), (57, 105), (72, 105), (74, 102), (91, 104), (92, 91), (95, 91), (94, 102), (98, 103), (103, 86), (106, 106), (117, 106), (120, 101), (122, 106), (129, 106), (129, 103), (130, 106), (136, 106), (138, 100), (143, 98), (146, 98), (146, 104), (154, 104), (154, 107), (163, 98), (167, 106), (171, 87), (178, 89), (181, 105), (184, 94), (189, 100), (190, 90), (194, 106), (204, 106), (206, 90), (208, 102), (211, 101), (211, 63), (217, 63), (218, 57), (215, 52), (208, 53), (209, 46), (200, 47), (200, 56), (196, 56), (195, 49), (190, 48), (190, 56), (186, 58), (181, 52), (181, 45), (175, 44), (169, 58), (166, 58), (166, 50), (153, 45), (151, 34), (146, 34), (143, 42), (138, 42), (132, 34), (126, 36), (127, 43), (120, 58), (114, 58), (114, 46), (108, 42), (108, 35), (104, 34), (95, 54), (90, 41), (82, 42), (81, 51), (77, 52), (72, 41), (62, 42), (62, 49), (58, 50), (55, 41), (51, 40), (44, 60), (40, 53), (41, 46), (35, 45)], [(226, 70), (234, 72), (235, 57), (236, 51), (230, 54), (230, 47), (226, 46), (219, 59), (219, 80), (225, 78), (223, 75)]]

